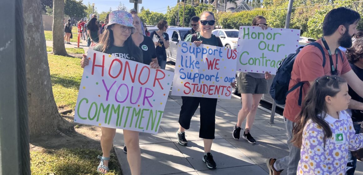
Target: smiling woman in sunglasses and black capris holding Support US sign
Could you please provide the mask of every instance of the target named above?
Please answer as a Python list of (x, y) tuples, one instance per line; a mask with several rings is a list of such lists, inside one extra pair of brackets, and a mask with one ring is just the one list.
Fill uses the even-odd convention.
[[(223, 47), (219, 37), (212, 34), (215, 24), (214, 14), (205, 11), (200, 15), (199, 32), (188, 35), (185, 41), (193, 42), (197, 47), (202, 43), (212, 46)], [(217, 99), (204, 98), (204, 97), (187, 97), (182, 96), (183, 104), (179, 115), (179, 130), (176, 132), (178, 142), (182, 146), (187, 146), (188, 141), (185, 139), (185, 129), (189, 129), (190, 121), (196, 109), (200, 105), (200, 130), (199, 137), (204, 141), (204, 156), (203, 162), (207, 164), (210, 169), (217, 168), (216, 162), (213, 160), (211, 154), (211, 147), (214, 139), (215, 124), (216, 124), (216, 106)]]

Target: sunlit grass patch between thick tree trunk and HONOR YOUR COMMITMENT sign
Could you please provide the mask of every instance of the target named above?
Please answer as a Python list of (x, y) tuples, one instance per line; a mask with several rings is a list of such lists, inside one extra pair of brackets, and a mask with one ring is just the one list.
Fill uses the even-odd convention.
[(53, 95), (58, 107), (74, 109), (83, 69), (79, 58), (48, 54)]

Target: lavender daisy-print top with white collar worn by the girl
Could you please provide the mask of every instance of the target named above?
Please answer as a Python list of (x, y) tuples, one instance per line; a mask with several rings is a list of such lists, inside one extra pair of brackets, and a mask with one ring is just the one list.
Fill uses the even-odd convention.
[(339, 112), (339, 119), (327, 115), (332, 137), (324, 143), (323, 128), (313, 121), (307, 121), (302, 137), (301, 159), (298, 175), (345, 175), (348, 151), (363, 147), (363, 134), (355, 134), (353, 122), (345, 111)]

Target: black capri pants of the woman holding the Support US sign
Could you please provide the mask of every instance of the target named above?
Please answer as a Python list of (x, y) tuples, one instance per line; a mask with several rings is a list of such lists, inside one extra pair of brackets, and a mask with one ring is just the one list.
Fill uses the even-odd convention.
[(179, 115), (179, 124), (181, 127), (189, 129), (190, 121), (200, 104), (199, 137), (214, 139), (217, 99), (186, 96), (182, 96), (181, 99), (183, 100)]

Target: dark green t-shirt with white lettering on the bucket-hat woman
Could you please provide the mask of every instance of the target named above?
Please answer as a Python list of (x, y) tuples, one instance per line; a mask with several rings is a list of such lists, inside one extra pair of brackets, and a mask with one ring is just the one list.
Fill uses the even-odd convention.
[[(101, 48), (102, 48), (102, 46), (103, 45), (98, 44), (97, 46), (95, 46), (93, 48), (93, 50), (100, 51)], [(140, 49), (139, 49), (139, 52), (140, 52), (139, 55), (141, 55), (141, 58), (135, 58), (135, 57), (133, 57), (130, 54), (130, 50), (127, 50), (127, 47), (125, 47), (125, 46), (118, 47), (118, 46), (111, 45), (110, 48), (105, 51), (106, 54), (111, 54), (111, 55), (114, 55), (116, 57), (125, 58), (125, 59), (129, 59), (129, 60), (136, 61), (136, 62), (139, 62), (139, 63), (143, 63), (143, 60), (142, 60), (142, 51)]]

